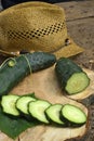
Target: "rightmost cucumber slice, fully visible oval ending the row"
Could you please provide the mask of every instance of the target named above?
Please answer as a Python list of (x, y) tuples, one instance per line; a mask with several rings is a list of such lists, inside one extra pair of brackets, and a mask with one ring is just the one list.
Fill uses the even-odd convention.
[(83, 125), (86, 123), (86, 114), (78, 106), (65, 104), (62, 108), (62, 115), (66, 121)]

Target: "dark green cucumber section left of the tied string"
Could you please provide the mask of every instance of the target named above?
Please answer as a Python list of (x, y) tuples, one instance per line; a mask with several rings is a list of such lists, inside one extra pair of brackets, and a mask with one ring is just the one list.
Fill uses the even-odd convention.
[(23, 56), (15, 59), (16, 64), (11, 67), (8, 63), (0, 68), (0, 95), (8, 94), (18, 81), (29, 74), (27, 61)]

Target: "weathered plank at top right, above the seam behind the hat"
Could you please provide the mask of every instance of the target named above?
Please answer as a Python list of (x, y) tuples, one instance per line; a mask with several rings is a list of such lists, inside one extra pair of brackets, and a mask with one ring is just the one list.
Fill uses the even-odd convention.
[(72, 1), (62, 2), (57, 5), (64, 8), (67, 21), (75, 21), (84, 17), (94, 17), (94, 2), (90, 1)]

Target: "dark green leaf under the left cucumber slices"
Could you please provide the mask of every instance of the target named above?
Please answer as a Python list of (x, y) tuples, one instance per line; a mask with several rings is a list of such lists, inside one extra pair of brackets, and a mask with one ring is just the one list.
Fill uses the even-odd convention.
[(0, 130), (12, 139), (15, 139), (27, 128), (33, 127), (36, 125), (38, 125), (37, 121), (29, 121), (23, 117), (12, 118), (5, 115), (0, 108)]

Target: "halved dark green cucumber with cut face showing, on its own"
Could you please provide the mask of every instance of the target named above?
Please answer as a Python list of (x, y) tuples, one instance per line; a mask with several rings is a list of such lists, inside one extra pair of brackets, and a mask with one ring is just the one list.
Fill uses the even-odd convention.
[(90, 85), (90, 78), (73, 61), (61, 57), (56, 65), (55, 72), (62, 88), (68, 94), (82, 92)]

